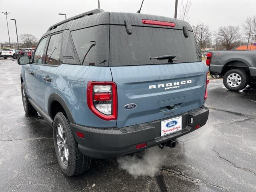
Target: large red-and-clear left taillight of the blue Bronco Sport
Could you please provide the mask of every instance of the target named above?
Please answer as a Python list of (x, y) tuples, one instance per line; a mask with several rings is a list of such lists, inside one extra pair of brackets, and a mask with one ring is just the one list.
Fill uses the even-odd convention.
[(116, 120), (116, 83), (89, 81), (87, 84), (87, 104), (90, 110), (99, 118)]

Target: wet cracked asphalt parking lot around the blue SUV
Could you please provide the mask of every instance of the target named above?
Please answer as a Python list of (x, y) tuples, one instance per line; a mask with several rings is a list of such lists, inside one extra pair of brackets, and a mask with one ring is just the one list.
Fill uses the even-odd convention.
[(92, 160), (88, 172), (70, 178), (58, 166), (52, 128), (24, 115), (20, 68), (0, 60), (1, 192), (256, 191), (256, 89), (231, 92), (222, 79), (211, 80), (207, 124), (179, 138), (176, 148)]

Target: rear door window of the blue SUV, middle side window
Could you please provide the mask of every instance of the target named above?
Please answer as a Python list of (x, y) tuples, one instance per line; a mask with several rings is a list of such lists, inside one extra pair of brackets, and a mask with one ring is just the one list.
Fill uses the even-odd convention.
[(46, 64), (60, 65), (60, 51), (62, 43), (62, 33), (52, 35), (47, 49)]

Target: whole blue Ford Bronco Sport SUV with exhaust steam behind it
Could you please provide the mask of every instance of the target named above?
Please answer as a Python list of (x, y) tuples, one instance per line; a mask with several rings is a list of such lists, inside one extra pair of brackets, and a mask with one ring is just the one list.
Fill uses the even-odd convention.
[(51, 26), (18, 64), (26, 115), (53, 127), (68, 176), (91, 158), (174, 147), (208, 119), (207, 68), (181, 20), (92, 10)]

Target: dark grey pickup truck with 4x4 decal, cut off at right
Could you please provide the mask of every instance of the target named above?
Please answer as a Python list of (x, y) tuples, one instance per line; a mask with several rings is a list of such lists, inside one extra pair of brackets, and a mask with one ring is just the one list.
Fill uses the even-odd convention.
[(240, 91), (247, 85), (256, 88), (256, 51), (211, 51), (206, 65), (211, 75), (223, 76), (228, 90)]

